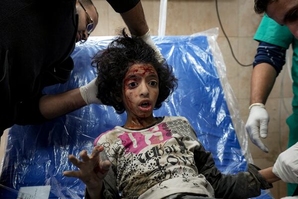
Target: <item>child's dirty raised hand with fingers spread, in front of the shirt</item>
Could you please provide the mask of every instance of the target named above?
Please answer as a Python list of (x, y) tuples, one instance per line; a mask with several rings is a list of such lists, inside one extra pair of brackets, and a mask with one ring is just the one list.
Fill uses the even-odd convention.
[(90, 199), (100, 199), (103, 192), (103, 179), (111, 167), (111, 162), (103, 151), (102, 146), (94, 147), (90, 156), (87, 155), (85, 150), (81, 151), (79, 156), (82, 161), (74, 157), (74, 155), (69, 156), (70, 162), (79, 170), (65, 171), (63, 175), (79, 178), (86, 185)]

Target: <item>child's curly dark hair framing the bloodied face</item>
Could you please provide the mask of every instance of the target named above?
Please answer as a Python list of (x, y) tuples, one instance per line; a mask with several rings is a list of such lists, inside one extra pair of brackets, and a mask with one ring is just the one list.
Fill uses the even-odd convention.
[(103, 104), (112, 105), (118, 113), (125, 111), (121, 98), (123, 79), (128, 69), (134, 64), (150, 64), (157, 72), (159, 79), (159, 95), (154, 109), (173, 93), (178, 80), (172, 73), (172, 67), (166, 62), (158, 62), (154, 50), (140, 38), (131, 38), (125, 28), (122, 34), (114, 39), (104, 51), (98, 52), (92, 60), (92, 66), (97, 67), (98, 86), (97, 98)]

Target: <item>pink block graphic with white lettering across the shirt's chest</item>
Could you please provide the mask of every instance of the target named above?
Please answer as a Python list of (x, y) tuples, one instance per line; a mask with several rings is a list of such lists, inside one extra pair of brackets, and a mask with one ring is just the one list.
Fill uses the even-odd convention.
[(126, 153), (139, 154), (142, 149), (149, 145), (163, 143), (172, 136), (166, 135), (167, 131), (163, 130), (161, 124), (142, 132), (124, 132), (118, 137), (125, 146)]

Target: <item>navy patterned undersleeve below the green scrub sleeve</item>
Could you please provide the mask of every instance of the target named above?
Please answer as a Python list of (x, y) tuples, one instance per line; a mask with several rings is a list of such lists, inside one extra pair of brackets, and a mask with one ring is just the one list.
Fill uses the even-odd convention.
[(274, 67), (278, 76), (286, 63), (286, 51), (286, 48), (262, 41), (259, 43), (253, 67), (268, 63)]

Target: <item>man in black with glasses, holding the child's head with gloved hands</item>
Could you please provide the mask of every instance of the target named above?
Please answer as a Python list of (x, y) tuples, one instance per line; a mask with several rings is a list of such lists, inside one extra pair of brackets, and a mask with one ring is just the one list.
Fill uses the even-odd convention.
[[(108, 2), (133, 35), (155, 46), (140, 0)], [(93, 82), (58, 95), (41, 92), (68, 81), (75, 43), (87, 40), (97, 22), (91, 0), (1, 0), (0, 135), (13, 124), (37, 124), (100, 103), (90, 92)]]

